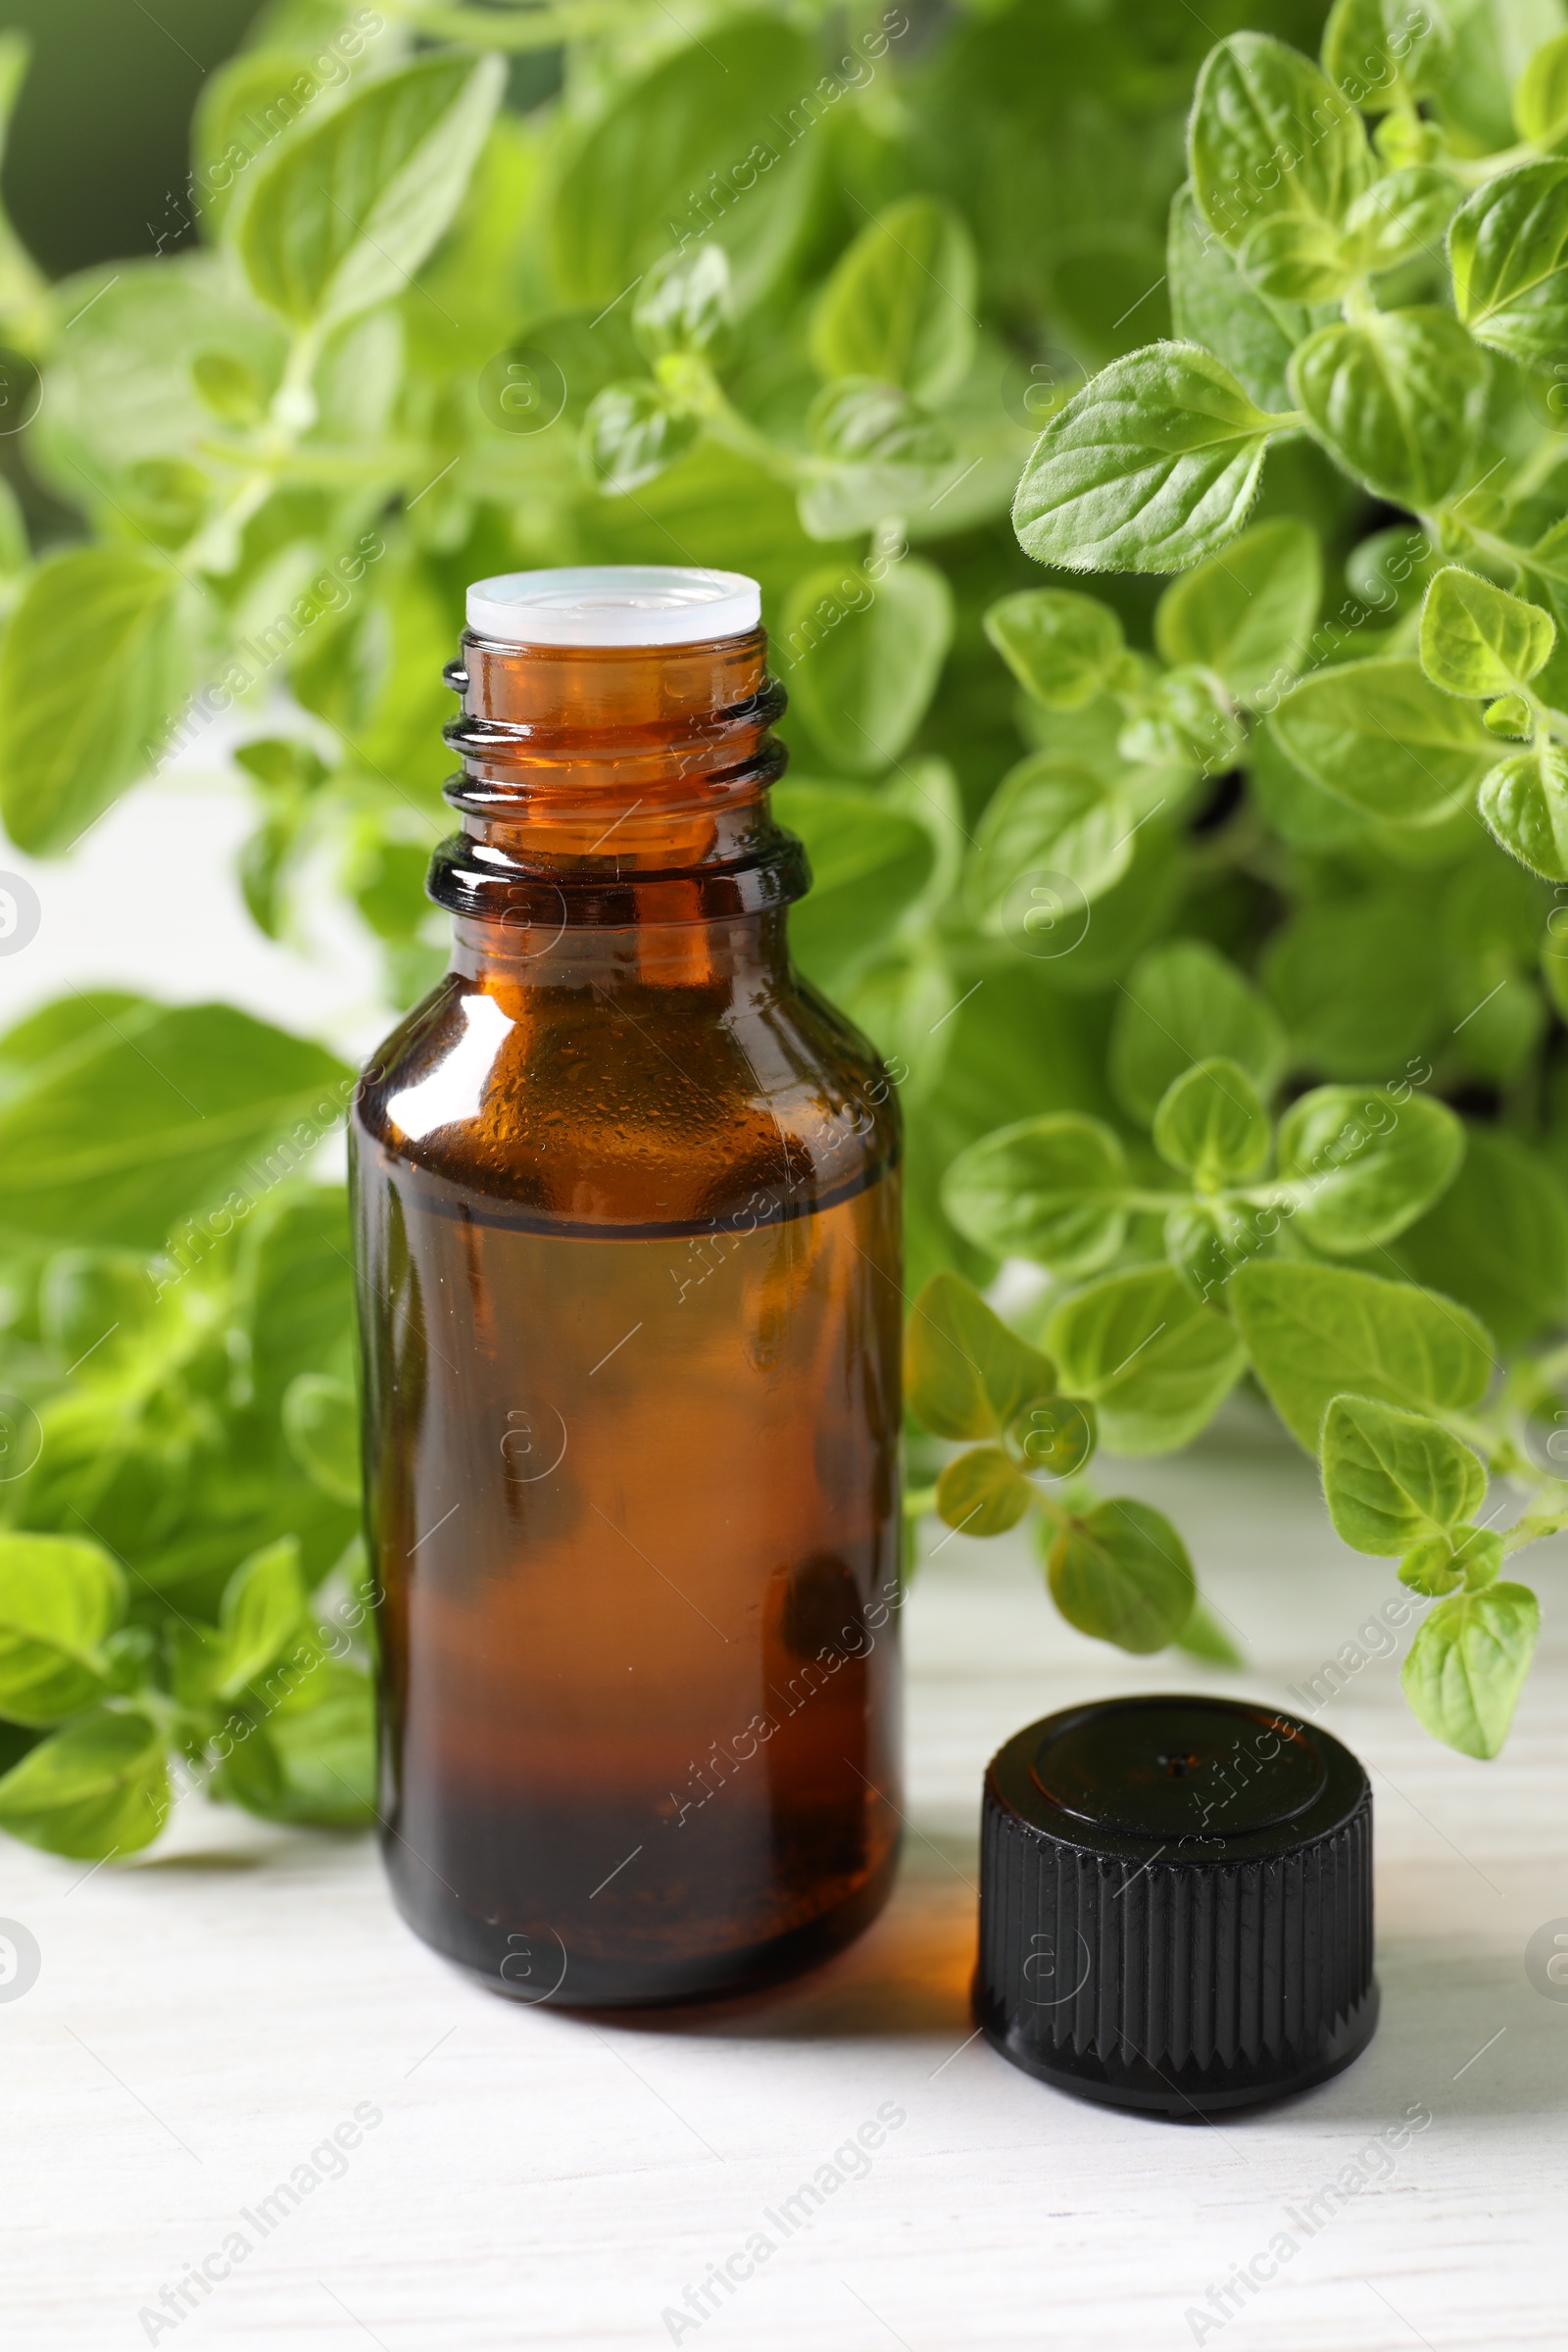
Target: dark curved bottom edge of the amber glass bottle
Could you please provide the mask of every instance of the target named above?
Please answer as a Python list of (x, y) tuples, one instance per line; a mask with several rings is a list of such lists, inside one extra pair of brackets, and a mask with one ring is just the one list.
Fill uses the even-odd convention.
[(414, 1905), (388, 1872), (397, 1912), (421, 1943), (475, 1985), (503, 1999), (550, 2009), (672, 2009), (762, 1992), (818, 1969), (851, 1945), (882, 1912), (898, 1875), (898, 1842), (860, 1884), (799, 1926), (759, 1943), (675, 1957), (574, 1955), (557, 1933), (520, 1936), (489, 1926), (456, 1903)]

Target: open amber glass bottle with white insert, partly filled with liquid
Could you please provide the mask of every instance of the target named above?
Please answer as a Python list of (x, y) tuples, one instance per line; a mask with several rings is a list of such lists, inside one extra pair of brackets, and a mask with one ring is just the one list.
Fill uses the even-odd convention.
[(757, 588), (470, 590), (447, 978), (355, 1101), (386, 1863), (522, 1999), (823, 1959), (898, 1851), (898, 1115), (792, 969)]

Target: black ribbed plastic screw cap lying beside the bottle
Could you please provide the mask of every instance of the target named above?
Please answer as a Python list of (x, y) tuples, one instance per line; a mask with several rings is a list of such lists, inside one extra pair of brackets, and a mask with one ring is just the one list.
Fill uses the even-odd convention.
[(1305, 2091), (1373, 2037), (1373, 1790), (1326, 1731), (1229, 1698), (1063, 1708), (980, 1816), (976, 2023), (1117, 2107)]

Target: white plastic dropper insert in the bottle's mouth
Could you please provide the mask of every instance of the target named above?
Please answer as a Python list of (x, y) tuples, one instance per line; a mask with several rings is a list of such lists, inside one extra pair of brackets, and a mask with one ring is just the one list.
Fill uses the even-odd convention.
[(682, 564), (503, 572), (468, 590), (470, 630), (501, 644), (705, 644), (759, 619), (762, 588), (745, 572)]

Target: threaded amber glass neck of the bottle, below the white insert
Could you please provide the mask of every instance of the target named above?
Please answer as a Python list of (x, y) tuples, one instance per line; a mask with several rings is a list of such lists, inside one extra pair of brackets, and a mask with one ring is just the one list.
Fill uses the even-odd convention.
[[(759, 628), (630, 649), (465, 633), (447, 682), (463, 696), (444, 729), (463, 830), (437, 849), (430, 896), (458, 917), (458, 969), (538, 981), (576, 960), (611, 976), (630, 955), (644, 976), (696, 964), (717, 976), (743, 936), (752, 962), (764, 955), (757, 920), (799, 898), (809, 875), (769, 811), (785, 696)], [(701, 953), (672, 936), (682, 929), (708, 934)], [(590, 946), (618, 931), (637, 948)], [(783, 953), (780, 917), (776, 934)]]

